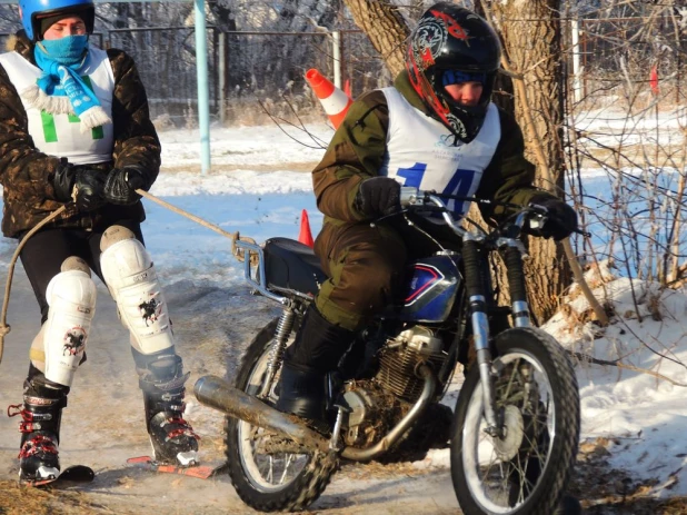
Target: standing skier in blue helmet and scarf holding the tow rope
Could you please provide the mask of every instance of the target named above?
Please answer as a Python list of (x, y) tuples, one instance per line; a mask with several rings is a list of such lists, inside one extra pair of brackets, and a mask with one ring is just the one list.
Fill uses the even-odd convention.
[(182, 418), (189, 374), (143, 247), (136, 194), (160, 168), (143, 85), (125, 52), (89, 44), (92, 0), (20, 0), (19, 8), (23, 30), (0, 55), (2, 232), (21, 240), (67, 208), (20, 255), (42, 323), (16, 413), (20, 481), (59, 475), (61, 414), (96, 309), (91, 270), (130, 331), (155, 459), (192, 465), (198, 436)]

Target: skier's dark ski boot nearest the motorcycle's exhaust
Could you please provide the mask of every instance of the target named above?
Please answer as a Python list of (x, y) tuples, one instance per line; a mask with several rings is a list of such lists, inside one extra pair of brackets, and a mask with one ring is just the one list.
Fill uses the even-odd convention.
[(150, 435), (156, 462), (188, 467), (198, 464), (198, 440), (191, 425), (183, 419), (183, 374), (177, 355), (157, 356), (147, 364), (139, 385), (143, 390), (146, 428)]

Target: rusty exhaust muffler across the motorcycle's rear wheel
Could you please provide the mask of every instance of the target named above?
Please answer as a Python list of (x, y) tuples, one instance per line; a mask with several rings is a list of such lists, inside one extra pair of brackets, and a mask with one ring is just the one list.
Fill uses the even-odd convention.
[(231, 386), (217, 376), (202, 376), (193, 386), (193, 394), (200, 404), (239, 418), (253, 426), (281, 433), (299, 444), (316, 447), (328, 453), (329, 440), (310, 429), (295, 415), (268, 406), (256, 397)]

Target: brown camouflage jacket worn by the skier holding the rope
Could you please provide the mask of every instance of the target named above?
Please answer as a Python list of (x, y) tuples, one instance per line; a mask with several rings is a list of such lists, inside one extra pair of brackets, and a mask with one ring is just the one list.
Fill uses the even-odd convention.
[[(14, 50), (36, 65), (33, 43), (19, 31), (10, 38)], [(107, 174), (112, 168), (137, 165), (152, 184), (160, 169), (160, 141), (148, 112), (148, 98), (133, 60), (121, 50), (107, 51), (114, 73), (112, 160), (88, 166)], [(0, 184), (3, 188), (2, 232), (18, 237), (62, 206), (56, 200), (52, 180), (59, 156), (40, 152), (29, 135), (27, 113), (17, 89), (0, 66)], [(52, 227), (92, 229), (122, 219), (143, 221), (140, 201), (131, 206), (106, 205), (91, 212), (79, 212), (69, 204)]]

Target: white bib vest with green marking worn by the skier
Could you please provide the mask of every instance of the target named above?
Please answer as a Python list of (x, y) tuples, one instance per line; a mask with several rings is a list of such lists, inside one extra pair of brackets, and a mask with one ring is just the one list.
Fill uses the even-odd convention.
[[(12, 85), (19, 92), (21, 102), (29, 119), (29, 133), (33, 145), (41, 152), (64, 157), (73, 165), (88, 165), (112, 160), (113, 126), (106, 123), (86, 133), (81, 133), (79, 118), (67, 113), (50, 113), (31, 107), (21, 92), (36, 85), (42, 71), (31, 65), (17, 52), (0, 55), (0, 65), (7, 71)], [(81, 71), (87, 76), (91, 88), (98, 97), (104, 112), (112, 118), (112, 93), (114, 91), (114, 73), (107, 52), (99, 48), (90, 48), (86, 68)], [(58, 98), (58, 97), (51, 97)], [(60, 97), (62, 100), (67, 97)]]

